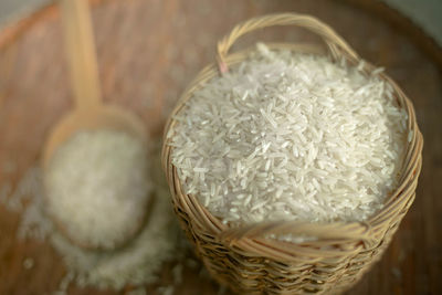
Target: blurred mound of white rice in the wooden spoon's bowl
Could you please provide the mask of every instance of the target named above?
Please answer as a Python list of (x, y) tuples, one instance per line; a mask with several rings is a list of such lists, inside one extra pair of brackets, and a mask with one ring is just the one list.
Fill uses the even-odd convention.
[(45, 171), (48, 212), (80, 245), (122, 245), (138, 231), (147, 211), (147, 152), (143, 140), (123, 131), (76, 133)]

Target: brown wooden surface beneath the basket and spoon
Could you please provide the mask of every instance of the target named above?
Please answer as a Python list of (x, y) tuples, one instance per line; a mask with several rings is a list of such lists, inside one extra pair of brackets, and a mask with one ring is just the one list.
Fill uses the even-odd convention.
[[(156, 138), (179, 93), (213, 61), (215, 42), (253, 15), (311, 13), (334, 27), (361, 56), (386, 66), (414, 103), (425, 139), (423, 170), (414, 204), (389, 250), (349, 294), (442, 294), (442, 71), (434, 55), (413, 43), (417, 39), (389, 25), (388, 18), (347, 3), (356, 0), (93, 2), (104, 99), (138, 114)], [(316, 41), (290, 28), (245, 39)], [(14, 183), (40, 157), (46, 131), (71, 107), (63, 53), (55, 7), (0, 32), (0, 187)], [(2, 169), (9, 161), (18, 169)], [(0, 206), (0, 294), (51, 294), (65, 273), (63, 262), (48, 244), (17, 241), (19, 220)], [(35, 261), (31, 270), (22, 266), (25, 257)], [(171, 282), (170, 265), (157, 285)], [(156, 286), (147, 289), (156, 294)], [(185, 268), (175, 294), (218, 289), (199, 270)], [(76, 287), (69, 293), (115, 294)]]

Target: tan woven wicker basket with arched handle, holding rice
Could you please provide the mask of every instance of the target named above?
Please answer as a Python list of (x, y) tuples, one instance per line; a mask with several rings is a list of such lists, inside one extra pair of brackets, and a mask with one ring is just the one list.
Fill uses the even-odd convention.
[[(168, 120), (165, 135), (172, 131), (177, 124), (172, 116), (181, 110), (196, 89), (248, 56), (250, 50), (228, 55), (236, 39), (272, 25), (302, 27), (325, 41), (332, 57), (345, 57), (351, 64), (360, 61), (339, 35), (315, 18), (284, 13), (251, 19), (234, 28), (218, 44), (218, 63), (203, 69), (187, 88)], [(295, 44), (270, 46), (284, 46), (294, 51), (313, 49)], [(370, 64), (365, 66), (366, 73), (372, 70)], [(391, 78), (385, 74), (380, 76), (393, 87), (394, 97), (407, 110), (408, 130), (412, 136), (406, 149), (398, 189), (386, 199), (385, 207), (364, 223), (272, 222), (230, 228), (213, 217), (194, 196), (183, 193), (170, 160), (171, 147), (167, 137), (164, 138), (161, 158), (175, 211), (198, 255), (218, 282), (241, 294), (341, 293), (380, 259), (414, 199), (423, 146), (411, 102)], [(318, 239), (294, 244), (263, 238), (266, 234), (285, 233)]]

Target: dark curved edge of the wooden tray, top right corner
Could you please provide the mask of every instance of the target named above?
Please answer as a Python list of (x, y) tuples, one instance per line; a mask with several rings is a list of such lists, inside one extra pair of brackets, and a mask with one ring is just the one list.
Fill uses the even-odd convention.
[(442, 71), (442, 46), (421, 27), (400, 11), (379, 0), (335, 0), (376, 14), (408, 36)]

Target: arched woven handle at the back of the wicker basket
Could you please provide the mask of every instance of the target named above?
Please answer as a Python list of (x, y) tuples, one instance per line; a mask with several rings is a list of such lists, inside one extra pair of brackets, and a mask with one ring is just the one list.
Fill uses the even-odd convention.
[(240, 36), (245, 33), (273, 25), (297, 25), (307, 29), (324, 40), (334, 59), (337, 59), (343, 53), (355, 60), (359, 59), (358, 54), (347, 44), (347, 42), (344, 41), (340, 35), (338, 35), (330, 27), (317, 20), (316, 18), (298, 13), (277, 13), (253, 18), (240, 23), (233, 28), (229, 35), (225, 35), (220, 42), (218, 42), (217, 61), (220, 72), (225, 73), (229, 71), (225, 59), (230, 48)]

